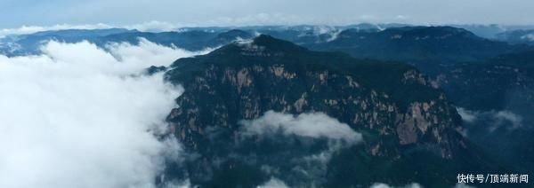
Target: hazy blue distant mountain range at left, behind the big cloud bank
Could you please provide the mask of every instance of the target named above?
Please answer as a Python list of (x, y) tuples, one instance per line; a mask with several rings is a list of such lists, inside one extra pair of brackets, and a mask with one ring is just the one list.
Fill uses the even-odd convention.
[(254, 37), (239, 29), (182, 29), (171, 32), (141, 32), (122, 28), (110, 29), (69, 29), (57, 31), (37, 32), (29, 35), (11, 35), (0, 39), (0, 53), (7, 56), (38, 54), (40, 46), (51, 40), (64, 43), (78, 43), (88, 41), (105, 49), (109, 43), (138, 44), (140, 38), (165, 46), (175, 46), (188, 51), (202, 51), (206, 48), (216, 48), (239, 39)]

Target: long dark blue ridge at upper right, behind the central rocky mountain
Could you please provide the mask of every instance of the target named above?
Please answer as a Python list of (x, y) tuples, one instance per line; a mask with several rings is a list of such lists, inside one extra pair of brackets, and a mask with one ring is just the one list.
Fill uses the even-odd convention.
[(358, 58), (406, 61), (428, 74), (457, 62), (530, 49), (481, 38), (457, 27), (394, 27), (380, 32), (347, 29), (328, 43), (304, 45), (318, 51), (344, 51)]

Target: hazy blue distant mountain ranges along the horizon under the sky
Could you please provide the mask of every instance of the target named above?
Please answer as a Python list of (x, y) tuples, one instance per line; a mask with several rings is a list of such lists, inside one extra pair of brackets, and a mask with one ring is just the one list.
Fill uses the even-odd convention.
[[(404, 27), (403, 30), (405, 31), (411, 30), (410, 28), (419, 30), (425, 29), (425, 27), (414, 27), (406, 24), (358, 24), (344, 27), (308, 25), (257, 27), (183, 27), (173, 32), (160, 33), (141, 32), (124, 28), (68, 29), (37, 32), (29, 35), (4, 36), (3, 38), (0, 38), (0, 52), (8, 56), (35, 54), (39, 51), (39, 45), (49, 40), (57, 40), (68, 43), (87, 40), (104, 47), (106, 43), (112, 42), (137, 43), (139, 37), (146, 38), (153, 43), (160, 43), (169, 46), (174, 45), (186, 50), (198, 51), (206, 48), (221, 46), (236, 40), (237, 37), (240, 39), (247, 39), (259, 34), (272, 35), (280, 39), (297, 43), (299, 45), (312, 45), (314, 43), (332, 42), (339, 34), (342, 33), (344, 36), (354, 35), (356, 31), (360, 31), (361, 33), (374, 33), (376, 34), (376, 39), (378, 39), (380, 38), (378, 35), (385, 35), (388, 32), (394, 33), (394, 31), (401, 30), (401, 27)], [(527, 40), (528, 35), (519, 36), (521, 40), (513, 39), (514, 37), (507, 35), (515, 35), (514, 32), (526, 32), (523, 31), (525, 29), (534, 29), (534, 27), (502, 27), (498, 25), (457, 25), (454, 27), (465, 28), (468, 31), (473, 32), (474, 35), (479, 35), (483, 38), (500, 40), (509, 43), (530, 43), (530, 41)], [(384, 30), (389, 31), (381, 32)], [(225, 34), (226, 32), (229, 33)], [(421, 34), (421, 37), (425, 37), (425, 33)], [(433, 34), (429, 33), (429, 35)], [(378, 45), (378, 43), (375, 45)]]

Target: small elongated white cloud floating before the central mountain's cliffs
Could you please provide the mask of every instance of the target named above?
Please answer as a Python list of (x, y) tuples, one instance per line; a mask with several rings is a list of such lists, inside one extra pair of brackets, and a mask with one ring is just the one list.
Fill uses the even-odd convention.
[(274, 133), (281, 130), (285, 135), (327, 137), (334, 140), (344, 140), (348, 143), (361, 141), (361, 134), (352, 130), (349, 125), (322, 113), (294, 116), (268, 111), (258, 119), (240, 121), (240, 123), (244, 125), (246, 135)]

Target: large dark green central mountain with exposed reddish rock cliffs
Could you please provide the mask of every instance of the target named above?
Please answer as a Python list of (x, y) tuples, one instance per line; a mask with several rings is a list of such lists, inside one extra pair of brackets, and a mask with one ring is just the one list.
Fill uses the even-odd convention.
[[(176, 99), (179, 107), (169, 114), (168, 121), (171, 134), (187, 150), (198, 153), (187, 172), (194, 184), (255, 186), (269, 176), (279, 176), (293, 186), (355, 185), (352, 179), (359, 180), (358, 184), (371, 184), (388, 172), (356, 178), (360, 169), (354, 169), (347, 174), (352, 179), (340, 181), (342, 176), (337, 171), (343, 167), (330, 160), (376, 158), (387, 161), (392, 168), (388, 170), (395, 171), (411, 169), (394, 168), (404, 164), (406, 158), (420, 157), (413, 153), (425, 153), (443, 162), (465, 160), (468, 155), (465, 151), (469, 145), (457, 132), (461, 119), (456, 108), (425, 75), (406, 65), (308, 51), (260, 35), (254, 41), (231, 43), (204, 56), (179, 59), (166, 73), (166, 79), (182, 84), (185, 89)], [(359, 145), (334, 147), (331, 142), (308, 138), (244, 138), (239, 121), (254, 120), (267, 111), (328, 114), (360, 132), (363, 141)], [(293, 150), (288, 153), (282, 148)], [(317, 173), (310, 173), (300, 163), (295, 166), (298, 153), (312, 151), (334, 152), (329, 153), (322, 163), (324, 168)], [(346, 154), (356, 151), (358, 154)], [(361, 168), (385, 165), (375, 162)], [(310, 179), (295, 176), (297, 168), (306, 171), (307, 176), (313, 174), (310, 179), (317, 181), (299, 182)], [(421, 176), (417, 173), (432, 171), (413, 169), (420, 172), (409, 171), (401, 176), (413, 179)], [(237, 175), (230, 176), (231, 173)], [(218, 179), (222, 176), (224, 181)], [(237, 178), (248, 178), (250, 182)], [(409, 179), (399, 182), (406, 180)], [(455, 180), (451, 176), (449, 183)]]

